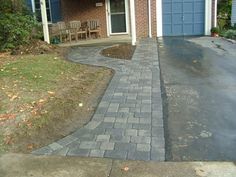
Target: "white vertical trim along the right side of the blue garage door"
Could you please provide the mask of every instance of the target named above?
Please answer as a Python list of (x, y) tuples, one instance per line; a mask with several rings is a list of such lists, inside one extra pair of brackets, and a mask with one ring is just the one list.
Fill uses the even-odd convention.
[(205, 0), (205, 35), (211, 34), (212, 0)]

